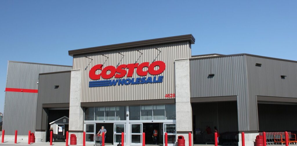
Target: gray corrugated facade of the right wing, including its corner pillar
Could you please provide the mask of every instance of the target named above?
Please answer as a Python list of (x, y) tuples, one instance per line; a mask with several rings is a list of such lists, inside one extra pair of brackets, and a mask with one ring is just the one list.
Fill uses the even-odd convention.
[(249, 54), (191, 59), (191, 97), (237, 96), (238, 130), (258, 131), (256, 96), (296, 98), (296, 71), (295, 61)]

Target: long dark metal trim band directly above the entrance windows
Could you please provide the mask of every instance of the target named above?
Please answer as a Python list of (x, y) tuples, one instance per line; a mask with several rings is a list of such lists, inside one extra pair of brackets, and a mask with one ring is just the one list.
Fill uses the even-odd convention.
[(123, 106), (123, 105), (149, 105), (149, 104), (175, 104), (175, 99), (136, 100), (136, 101), (110, 101), (110, 102), (82, 102), (81, 107), (95, 106)]

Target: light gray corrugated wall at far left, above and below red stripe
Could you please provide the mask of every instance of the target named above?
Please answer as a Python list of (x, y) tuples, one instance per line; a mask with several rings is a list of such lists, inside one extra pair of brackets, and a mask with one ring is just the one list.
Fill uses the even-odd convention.
[[(66, 71), (71, 66), (36, 64), (8, 61), (6, 88), (34, 89), (38, 88), (38, 74), (46, 72)], [(5, 134), (27, 135), (35, 131), (37, 93), (5, 92), (3, 129)]]

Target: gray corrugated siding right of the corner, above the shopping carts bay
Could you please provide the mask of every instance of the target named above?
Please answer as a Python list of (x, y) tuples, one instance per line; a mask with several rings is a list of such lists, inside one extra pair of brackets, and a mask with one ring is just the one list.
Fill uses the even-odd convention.
[(297, 98), (297, 63), (247, 56), (247, 67), (250, 96)]

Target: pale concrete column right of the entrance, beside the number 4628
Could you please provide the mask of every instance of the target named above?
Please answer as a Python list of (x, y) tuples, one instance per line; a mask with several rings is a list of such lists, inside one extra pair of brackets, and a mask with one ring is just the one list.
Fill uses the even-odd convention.
[(193, 130), (192, 106), (190, 102), (191, 93), (189, 59), (175, 60), (175, 95), (176, 134), (177, 136), (184, 136), (185, 145), (189, 145), (189, 132), (192, 132)]

